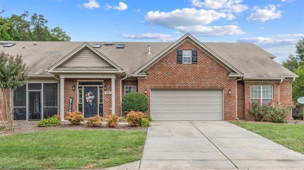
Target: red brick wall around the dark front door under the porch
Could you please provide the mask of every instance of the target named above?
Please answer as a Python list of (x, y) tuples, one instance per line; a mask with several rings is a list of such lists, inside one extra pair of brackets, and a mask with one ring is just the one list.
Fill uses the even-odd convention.
[[(107, 89), (104, 91), (111, 91), (112, 83), (111, 79), (71, 79), (66, 78), (64, 80), (64, 119), (66, 119), (68, 113), (69, 106), (69, 98), (73, 97), (73, 107), (72, 111), (76, 111), (78, 109), (78, 101), (77, 101), (77, 88), (73, 91), (72, 86), (77, 85), (77, 80), (103, 80), (103, 85), (107, 86)], [(120, 78), (115, 80), (115, 113), (120, 115), (120, 90), (119, 83)], [(84, 101), (85, 102), (85, 101)], [(103, 93), (103, 114), (104, 116), (112, 114), (112, 94)], [(80, 110), (82, 112), (82, 110)]]

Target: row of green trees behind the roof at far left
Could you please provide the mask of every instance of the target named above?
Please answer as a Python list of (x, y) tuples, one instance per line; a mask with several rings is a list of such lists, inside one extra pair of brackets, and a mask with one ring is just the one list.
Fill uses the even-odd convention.
[(28, 11), (7, 18), (0, 16), (0, 41), (71, 41), (61, 28), (48, 28), (43, 14), (34, 13), (28, 18)]

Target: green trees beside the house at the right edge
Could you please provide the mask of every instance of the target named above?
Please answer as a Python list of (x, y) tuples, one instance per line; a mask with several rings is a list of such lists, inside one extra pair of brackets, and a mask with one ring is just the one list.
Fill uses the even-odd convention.
[(300, 105), (297, 99), (304, 96), (304, 37), (299, 39), (295, 47), (295, 54), (290, 54), (282, 65), (299, 76), (292, 83), (292, 100)]

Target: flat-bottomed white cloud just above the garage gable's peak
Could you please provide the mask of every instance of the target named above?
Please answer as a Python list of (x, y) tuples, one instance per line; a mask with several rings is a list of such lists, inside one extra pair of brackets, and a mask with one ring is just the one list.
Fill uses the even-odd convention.
[(176, 27), (178, 31), (186, 33), (190, 32), (191, 34), (204, 37), (213, 37), (213, 36), (224, 36), (224, 35), (243, 35), (246, 34), (245, 31), (241, 30), (236, 25), (224, 25), (224, 26), (179, 26)]

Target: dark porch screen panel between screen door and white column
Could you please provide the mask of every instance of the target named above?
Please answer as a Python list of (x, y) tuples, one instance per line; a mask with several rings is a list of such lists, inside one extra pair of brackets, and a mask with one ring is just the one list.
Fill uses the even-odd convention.
[(58, 114), (58, 84), (43, 83), (43, 118)]

